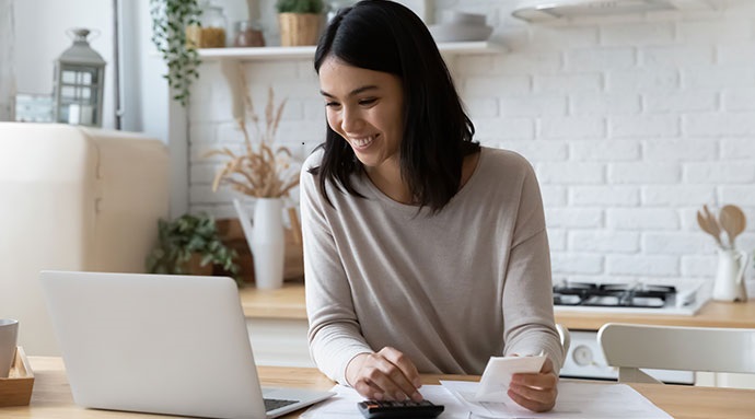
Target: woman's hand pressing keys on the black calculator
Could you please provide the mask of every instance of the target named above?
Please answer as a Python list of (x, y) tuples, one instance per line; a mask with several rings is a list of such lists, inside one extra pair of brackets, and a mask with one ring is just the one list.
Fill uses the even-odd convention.
[(385, 347), (376, 353), (360, 353), (346, 368), (346, 381), (362, 396), (375, 400), (421, 401), (415, 364), (402, 352)]

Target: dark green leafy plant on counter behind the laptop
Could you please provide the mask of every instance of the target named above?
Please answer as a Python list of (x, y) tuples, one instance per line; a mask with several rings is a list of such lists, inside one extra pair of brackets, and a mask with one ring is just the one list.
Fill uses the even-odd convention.
[(198, 254), (200, 266), (220, 266), (241, 284), (236, 252), (220, 240), (212, 216), (202, 212), (197, 216), (186, 213), (171, 222), (161, 219), (158, 228), (158, 244), (147, 257), (149, 272), (190, 273), (187, 272), (187, 264)]

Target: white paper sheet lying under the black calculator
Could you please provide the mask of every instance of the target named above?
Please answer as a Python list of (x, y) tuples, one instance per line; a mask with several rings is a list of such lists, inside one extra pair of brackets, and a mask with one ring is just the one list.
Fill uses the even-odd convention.
[[(364, 419), (359, 412), (357, 404), (363, 401), (364, 397), (360, 396), (357, 391), (351, 387), (336, 385), (332, 389), (336, 395), (325, 401), (312, 406), (309, 410), (300, 416), (305, 419)], [(468, 419), (469, 409), (443, 386), (440, 385), (423, 385), (419, 388), (422, 397), (434, 403), (435, 405), (443, 405), (445, 408), (438, 418), (440, 419)]]

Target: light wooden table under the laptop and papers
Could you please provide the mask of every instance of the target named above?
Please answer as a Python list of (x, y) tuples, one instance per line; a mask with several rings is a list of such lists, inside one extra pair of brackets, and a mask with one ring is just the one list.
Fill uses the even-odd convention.
[[(95, 419), (158, 418), (162, 416), (84, 409), (73, 404), (60, 358), (28, 357), (34, 370), (34, 393), (30, 406), (0, 408), (0, 419)], [(333, 382), (314, 369), (260, 366), (260, 380), (270, 386), (330, 388)], [(426, 384), (439, 379), (477, 380), (475, 376), (426, 375)], [(755, 391), (632, 384), (644, 397), (677, 419), (755, 418)], [(620, 408), (620, 407), (619, 407)], [(297, 414), (286, 418), (297, 418)]]

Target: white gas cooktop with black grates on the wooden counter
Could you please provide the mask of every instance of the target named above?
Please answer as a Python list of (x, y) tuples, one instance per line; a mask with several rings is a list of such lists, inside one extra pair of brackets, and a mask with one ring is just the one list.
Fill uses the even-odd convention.
[(694, 315), (707, 301), (701, 283), (654, 284), (648, 282), (554, 283), (556, 311), (609, 311), (612, 313)]

